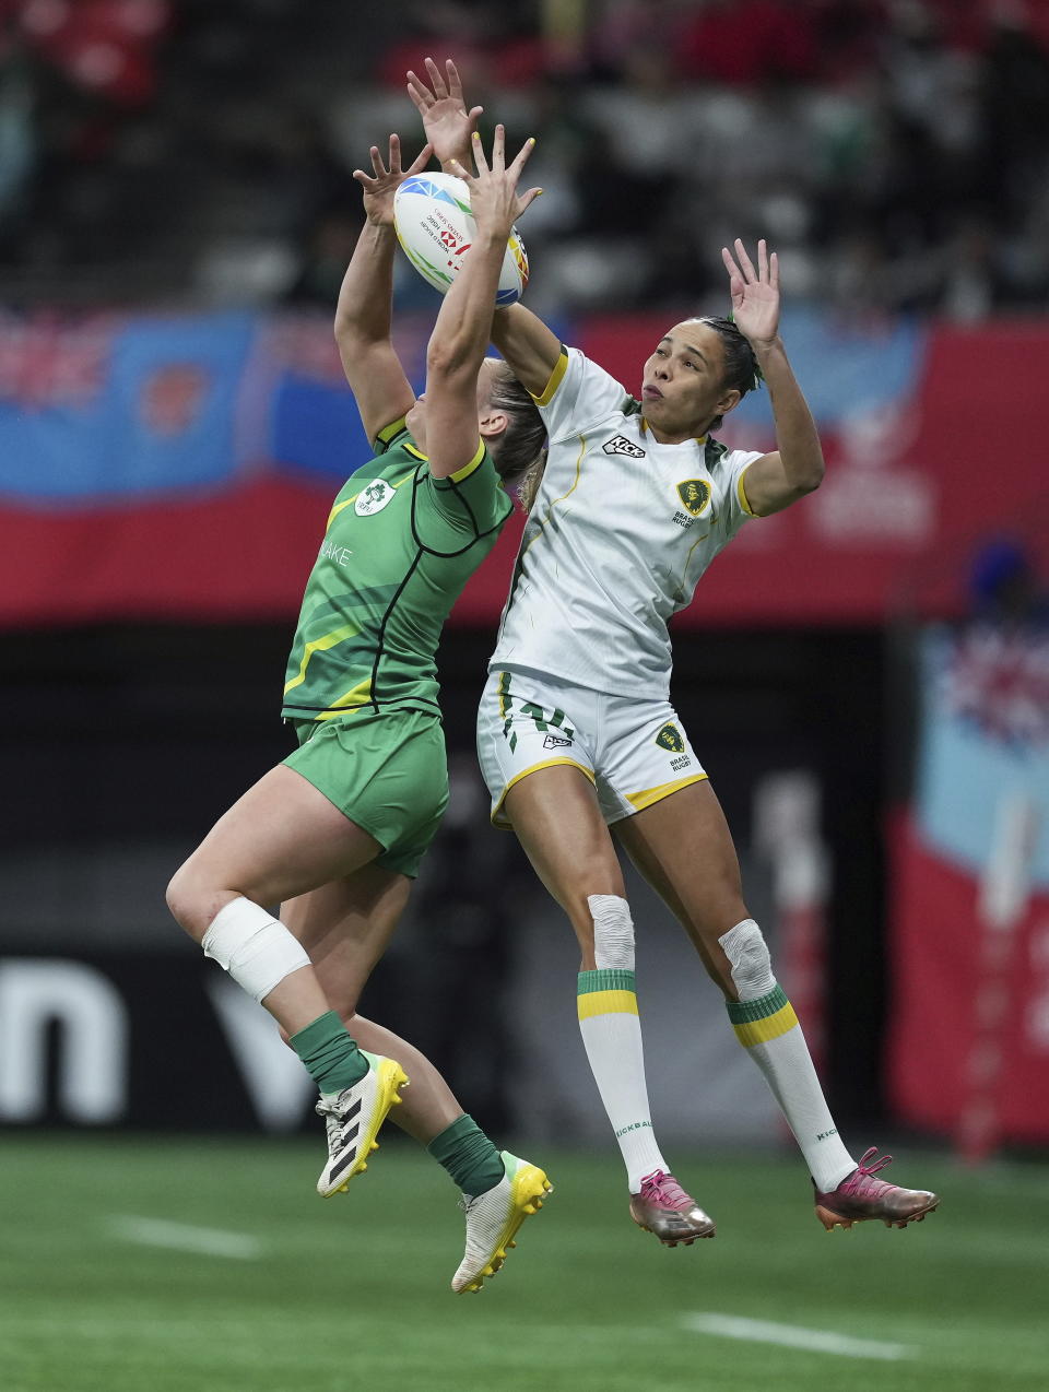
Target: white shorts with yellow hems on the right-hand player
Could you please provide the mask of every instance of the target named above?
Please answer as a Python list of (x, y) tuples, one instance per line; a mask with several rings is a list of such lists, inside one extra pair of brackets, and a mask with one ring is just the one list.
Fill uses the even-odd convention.
[(556, 677), (494, 671), (477, 711), (477, 757), (491, 820), (537, 768), (572, 764), (593, 782), (607, 823), (622, 821), (707, 774), (666, 700), (608, 696)]

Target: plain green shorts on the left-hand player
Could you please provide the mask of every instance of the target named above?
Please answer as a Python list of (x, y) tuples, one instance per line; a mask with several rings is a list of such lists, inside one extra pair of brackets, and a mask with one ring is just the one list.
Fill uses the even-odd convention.
[(284, 763), (376, 838), (376, 864), (415, 878), (448, 806), (437, 715), (394, 710), (291, 724), (299, 748)]

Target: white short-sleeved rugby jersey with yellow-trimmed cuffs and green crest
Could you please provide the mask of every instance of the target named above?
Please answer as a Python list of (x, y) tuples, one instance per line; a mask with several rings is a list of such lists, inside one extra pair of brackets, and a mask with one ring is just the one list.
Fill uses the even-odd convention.
[(639, 402), (576, 348), (537, 405), (550, 454), (524, 525), (491, 670), (665, 699), (671, 615), (748, 516), (760, 452), (659, 444)]

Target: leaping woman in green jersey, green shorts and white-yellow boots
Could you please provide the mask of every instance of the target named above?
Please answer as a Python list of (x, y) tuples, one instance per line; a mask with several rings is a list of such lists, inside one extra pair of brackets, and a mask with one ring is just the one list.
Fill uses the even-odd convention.
[[(416, 400), (391, 341), (394, 192), (409, 170), (390, 138), (362, 184), (367, 223), (335, 316), (346, 377), (374, 458), (331, 508), (288, 661), (284, 715), (298, 748), (223, 816), (177, 871), (178, 923), (281, 1026), (320, 1089), (328, 1196), (360, 1173), (408, 1076), (405, 1129), (427, 1144), (466, 1200), (456, 1290), (499, 1268), (509, 1239), (548, 1187), (463, 1114), (433, 1065), (356, 1015), (448, 798), (434, 654), (441, 626), (512, 511), (506, 487), (541, 454), (538, 413), (504, 365), (486, 358), (499, 267), (533, 142), (491, 167), (474, 141), (467, 181), (476, 238), (448, 291)], [(267, 905), (281, 905), (280, 919)], [(349, 1027), (348, 1027), (349, 1026)], [(413, 1101), (413, 1094), (417, 1101)]]

